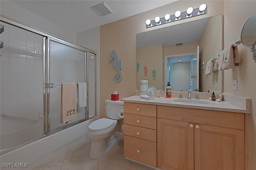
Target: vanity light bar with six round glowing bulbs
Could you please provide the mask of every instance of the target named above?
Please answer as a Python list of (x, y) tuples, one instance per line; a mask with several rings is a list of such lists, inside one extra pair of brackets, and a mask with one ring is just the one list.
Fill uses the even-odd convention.
[(193, 16), (203, 15), (207, 13), (207, 6), (206, 4), (201, 4), (199, 8), (192, 8), (189, 7), (186, 11), (181, 12), (177, 10), (175, 14), (170, 15), (166, 14), (164, 17), (160, 18), (157, 16), (154, 20), (146, 20), (146, 28), (159, 26), (162, 24), (166, 24), (169, 22), (177, 21), (177, 20), (183, 20), (186, 18), (190, 18)]

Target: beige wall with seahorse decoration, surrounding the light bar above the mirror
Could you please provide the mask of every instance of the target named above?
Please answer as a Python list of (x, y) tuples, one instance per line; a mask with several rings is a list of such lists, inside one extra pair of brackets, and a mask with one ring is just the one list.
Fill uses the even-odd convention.
[[(198, 8), (203, 3), (207, 4), (207, 14), (146, 29), (147, 19), (153, 20), (156, 16), (163, 17), (167, 13), (174, 14), (176, 10), (183, 12), (190, 6)], [(223, 14), (223, 1), (182, 0), (100, 26), (100, 82), (102, 84), (100, 87), (100, 117), (106, 117), (104, 100), (109, 99), (110, 94), (115, 90), (120, 93), (120, 99), (135, 95), (137, 86), (136, 34), (218, 14)], [(108, 64), (112, 50), (116, 50), (122, 59), (123, 80), (120, 83), (114, 82), (113, 76), (116, 71), (111, 64)], [(118, 123), (116, 130), (121, 131), (122, 123), (122, 121)]]

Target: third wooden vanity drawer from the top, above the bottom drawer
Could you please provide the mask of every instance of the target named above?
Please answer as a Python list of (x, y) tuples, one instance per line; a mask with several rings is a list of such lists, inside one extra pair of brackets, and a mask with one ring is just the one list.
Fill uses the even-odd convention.
[(124, 134), (156, 142), (156, 130), (124, 124)]

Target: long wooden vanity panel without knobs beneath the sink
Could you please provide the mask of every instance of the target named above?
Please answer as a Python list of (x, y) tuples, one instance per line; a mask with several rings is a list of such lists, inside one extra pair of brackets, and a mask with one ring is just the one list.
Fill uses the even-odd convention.
[(244, 113), (158, 106), (157, 117), (244, 130)]

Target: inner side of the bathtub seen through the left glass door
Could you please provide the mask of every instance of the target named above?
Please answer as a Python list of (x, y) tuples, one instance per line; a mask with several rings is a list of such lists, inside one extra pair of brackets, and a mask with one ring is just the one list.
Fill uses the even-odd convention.
[(0, 150), (2, 152), (8, 148), (12, 148), (14, 146), (18, 146), (30, 140), (36, 139), (43, 136), (43, 133), (44, 125), (42, 122), (29, 125), (12, 132), (3, 133), (1, 134), (0, 138)]

